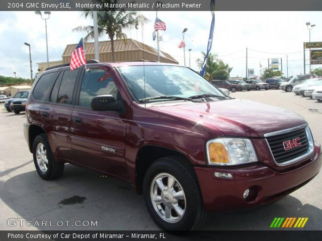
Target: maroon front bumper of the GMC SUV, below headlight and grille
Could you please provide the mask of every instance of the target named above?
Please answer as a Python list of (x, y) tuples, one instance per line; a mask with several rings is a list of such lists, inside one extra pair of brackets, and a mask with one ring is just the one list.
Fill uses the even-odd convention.
[[(322, 165), (321, 146), (315, 143), (315, 155), (305, 164), (292, 170), (275, 171), (261, 163), (246, 167), (195, 167), (205, 209), (208, 211), (233, 210), (258, 206), (276, 201), (309, 182)], [(214, 172), (231, 173), (232, 179), (217, 178)], [(246, 189), (257, 192), (246, 201)]]

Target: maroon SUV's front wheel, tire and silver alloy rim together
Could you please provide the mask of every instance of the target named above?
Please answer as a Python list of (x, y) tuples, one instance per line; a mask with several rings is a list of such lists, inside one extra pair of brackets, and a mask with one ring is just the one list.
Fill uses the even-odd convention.
[(164, 230), (191, 230), (205, 219), (198, 179), (182, 157), (165, 157), (146, 171), (143, 195), (154, 222)]

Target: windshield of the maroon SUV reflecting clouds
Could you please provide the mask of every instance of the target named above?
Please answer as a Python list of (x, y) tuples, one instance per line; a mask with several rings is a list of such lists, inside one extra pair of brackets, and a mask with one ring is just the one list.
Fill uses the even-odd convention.
[[(186, 67), (138, 65), (118, 67), (118, 70), (137, 100), (158, 96), (189, 98), (204, 94), (225, 98), (214, 85)], [(165, 98), (160, 100), (169, 101), (174, 99)]]

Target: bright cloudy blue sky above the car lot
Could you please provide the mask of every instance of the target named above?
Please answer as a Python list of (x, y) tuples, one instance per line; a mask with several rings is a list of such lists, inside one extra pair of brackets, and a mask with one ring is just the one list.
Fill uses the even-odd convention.
[[(151, 34), (155, 12), (142, 12), (150, 19), (143, 30), (127, 31), (128, 37), (154, 46)], [(186, 40), (186, 65), (197, 70), (195, 60), (201, 57), (208, 42), (211, 22), (210, 12), (158, 12), (158, 17), (167, 24), (160, 46), (183, 64), (183, 49), (177, 46), (182, 39), (182, 30), (188, 28)], [(286, 55), (288, 74), (303, 73), (303, 42), (308, 42), (309, 31), (305, 23), (316, 26), (311, 31), (311, 41), (322, 41), (321, 12), (216, 12), (212, 53), (233, 67), (231, 76), (246, 76), (246, 48), (248, 68), (254, 68), (257, 75), (260, 67), (267, 67), (268, 58), (282, 58), (286, 76)], [(84, 19), (81, 12), (52, 12), (47, 21), (49, 60), (60, 60), (67, 44), (77, 43), (85, 35), (74, 33), (77, 26), (92, 25), (92, 20)], [(104, 37), (100, 40), (108, 40)], [(29, 78), (29, 49), (31, 45), (33, 71), (37, 62), (46, 61), (45, 21), (34, 12), (0, 13), (0, 75)], [(306, 52), (308, 56), (308, 51)], [(312, 65), (312, 68), (322, 67)], [(308, 66), (306, 71), (308, 71)]]

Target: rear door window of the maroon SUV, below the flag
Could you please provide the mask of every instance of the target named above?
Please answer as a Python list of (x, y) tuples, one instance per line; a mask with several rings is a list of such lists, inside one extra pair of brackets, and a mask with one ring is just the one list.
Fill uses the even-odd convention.
[(59, 91), (58, 91), (57, 103), (61, 103), (61, 104), (72, 103), (72, 93), (74, 90), (77, 73), (78, 73), (78, 70), (64, 71), (61, 79)]

